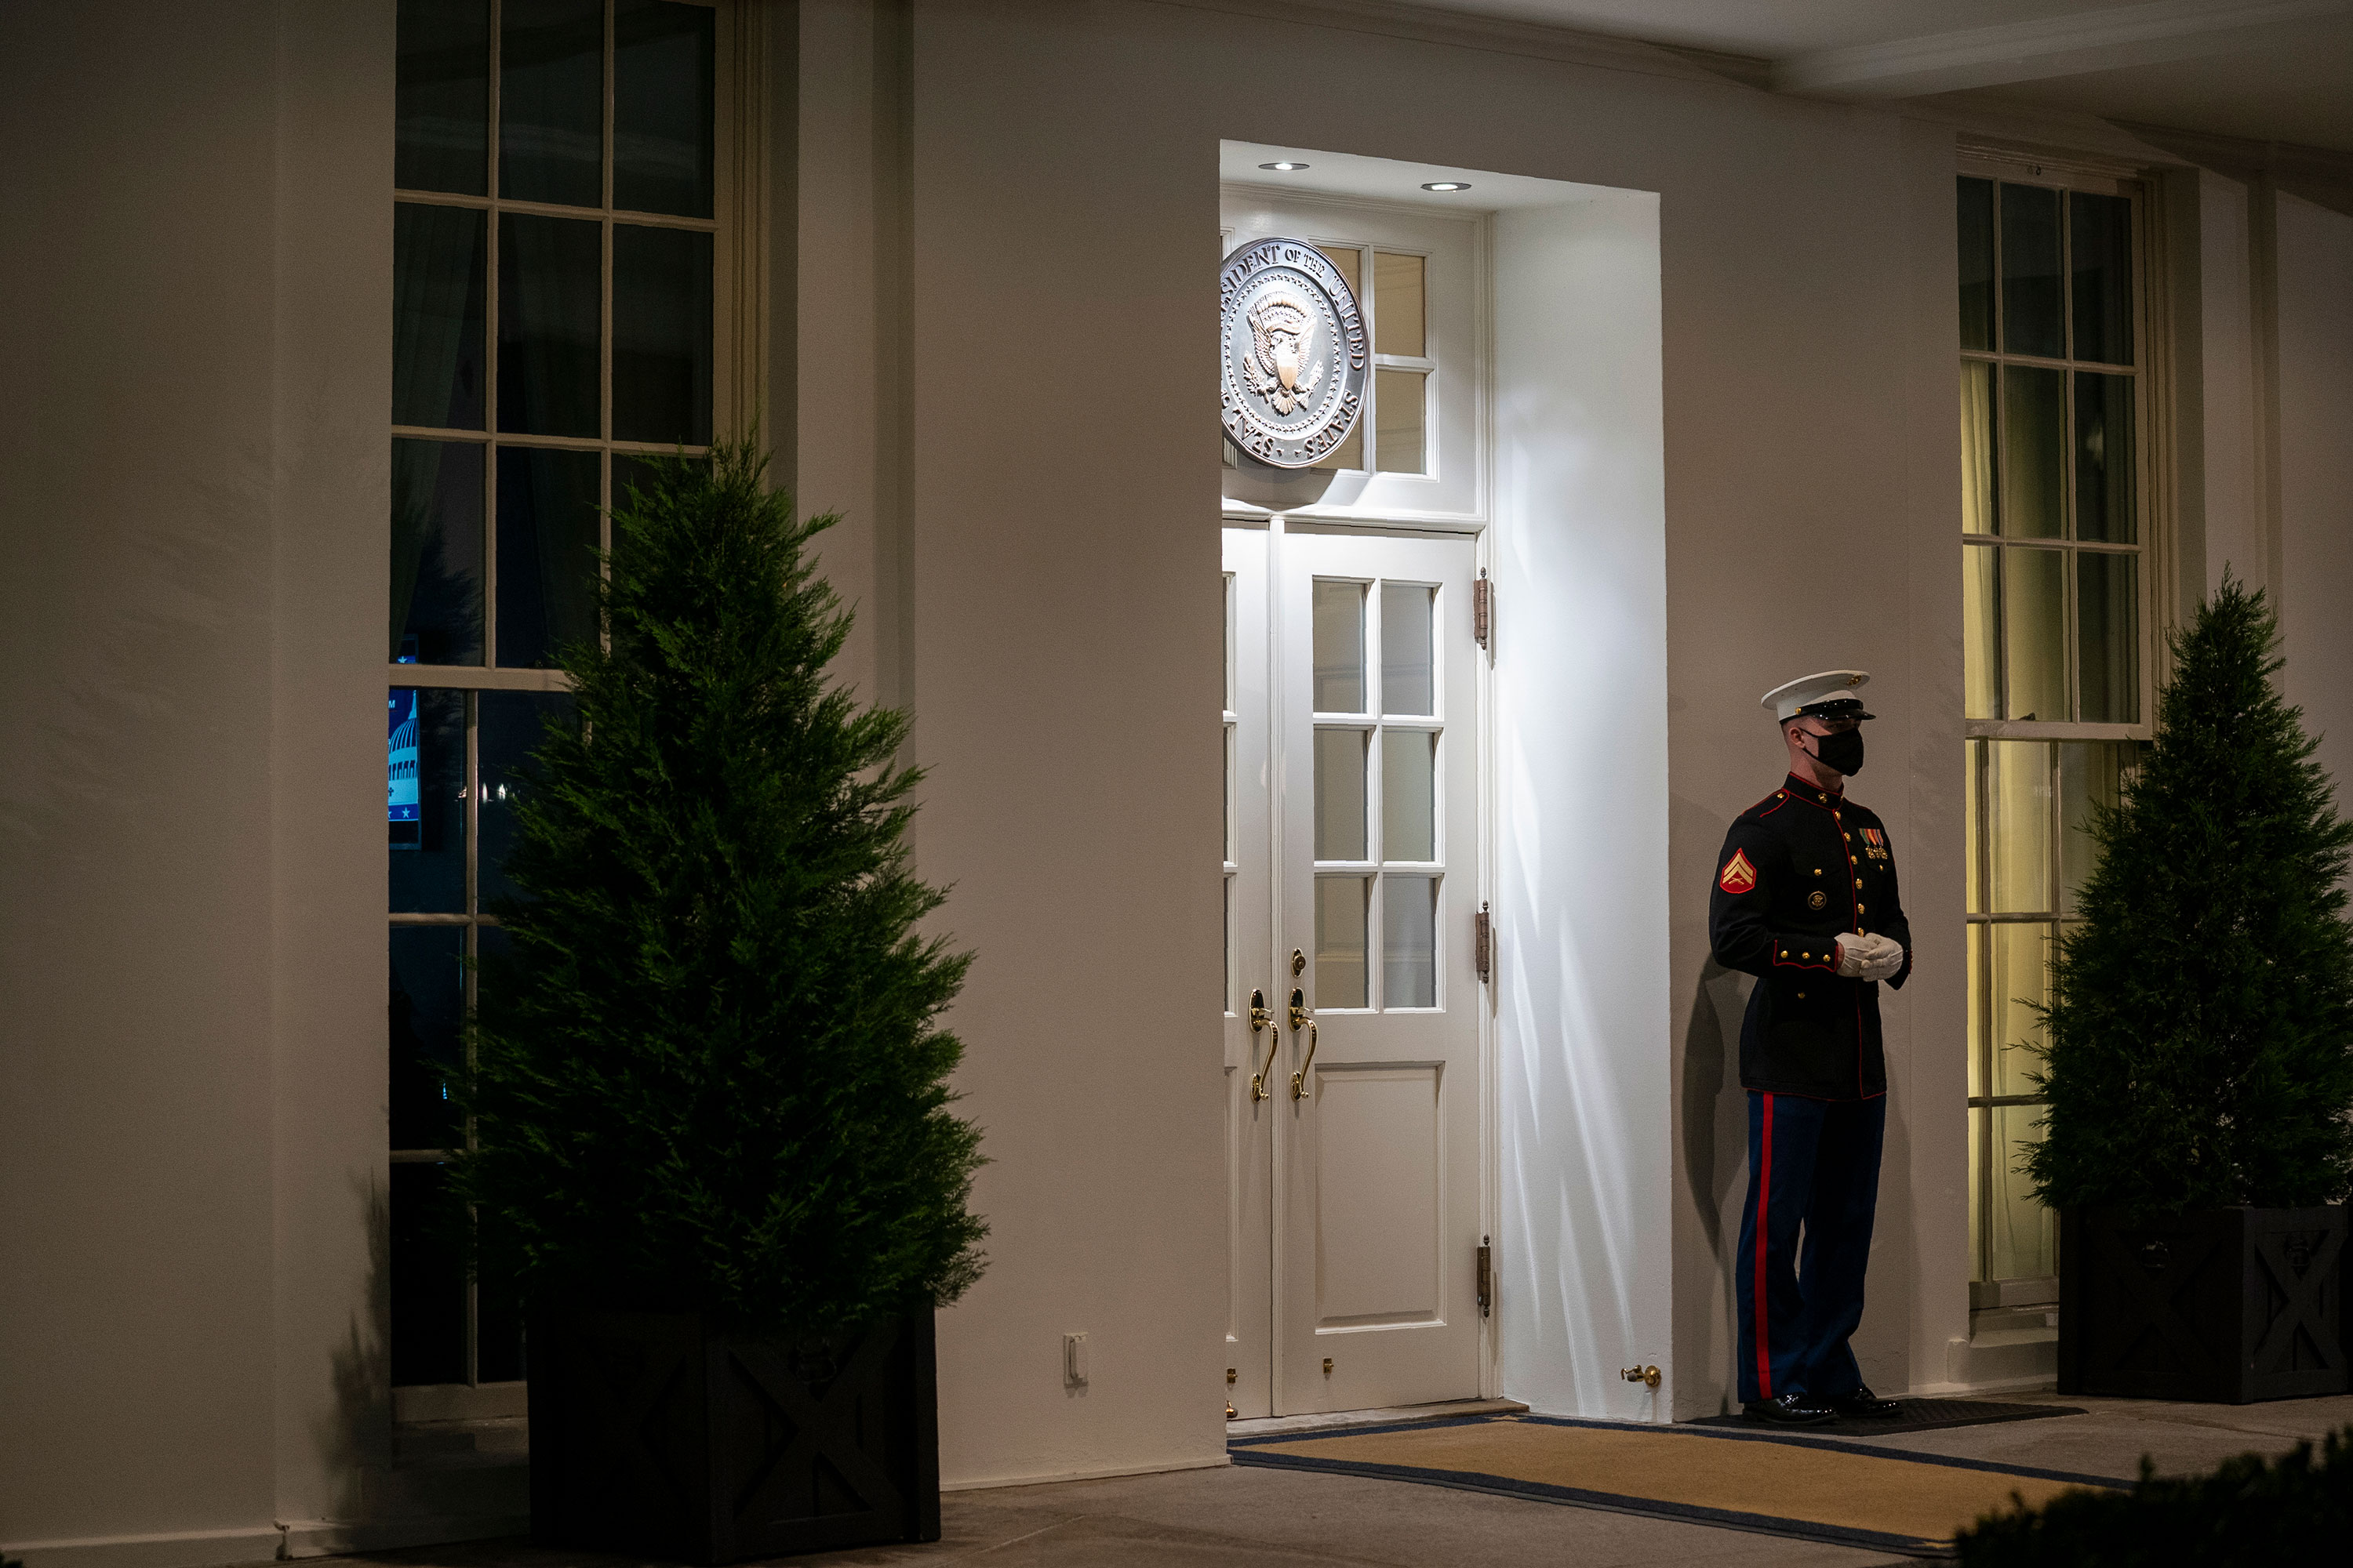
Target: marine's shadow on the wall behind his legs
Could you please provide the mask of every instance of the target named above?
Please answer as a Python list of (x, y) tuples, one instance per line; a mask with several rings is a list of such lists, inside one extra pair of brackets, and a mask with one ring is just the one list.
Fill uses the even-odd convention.
[[(1732, 1253), (1741, 1244), (1741, 1199), (1748, 1192), (1748, 1105), (1741, 1088), (1741, 1016), (1748, 976), (1711, 954), (1699, 966), (1692, 1023), (1682, 1034), (1682, 1182), (1715, 1260), (1715, 1293), (1706, 1338), (1697, 1349), (1708, 1368), (1697, 1387), (1732, 1366)], [(1699, 1368), (1694, 1368), (1699, 1371)], [(1729, 1408), (1729, 1392), (1725, 1394)]]

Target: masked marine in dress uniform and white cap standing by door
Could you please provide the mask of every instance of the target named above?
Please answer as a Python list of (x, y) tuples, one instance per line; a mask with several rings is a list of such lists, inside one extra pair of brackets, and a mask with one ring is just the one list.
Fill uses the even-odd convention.
[(1847, 1347), (1864, 1321), (1887, 1126), (1880, 985), (1911, 976), (1894, 844), (1845, 795), (1864, 766), (1868, 679), (1824, 670), (1765, 693), (1791, 773), (1732, 823), (1708, 898), (1715, 959), (1758, 978), (1741, 1020), (1741, 1406), (1784, 1425), (1897, 1408), (1864, 1387)]

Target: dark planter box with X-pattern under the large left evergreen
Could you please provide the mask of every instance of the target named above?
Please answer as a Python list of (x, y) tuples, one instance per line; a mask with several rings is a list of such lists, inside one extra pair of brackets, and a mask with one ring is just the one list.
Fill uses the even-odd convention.
[(939, 1540), (932, 1314), (800, 1338), (536, 1314), (532, 1537), (687, 1563)]

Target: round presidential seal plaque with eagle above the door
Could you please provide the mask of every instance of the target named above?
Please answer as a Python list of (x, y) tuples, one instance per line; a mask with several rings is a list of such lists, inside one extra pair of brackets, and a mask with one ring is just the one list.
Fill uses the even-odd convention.
[(1372, 346), (1348, 280), (1306, 240), (1259, 240), (1226, 256), (1217, 294), (1226, 440), (1275, 468), (1322, 461), (1365, 411)]

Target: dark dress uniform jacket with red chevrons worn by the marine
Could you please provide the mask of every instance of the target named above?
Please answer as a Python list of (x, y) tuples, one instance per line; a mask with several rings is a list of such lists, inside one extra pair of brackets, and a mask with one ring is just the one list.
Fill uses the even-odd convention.
[(1744, 1088), (1814, 1100), (1887, 1093), (1880, 987), (1838, 978), (1840, 931), (1904, 943), (1889, 985), (1911, 978), (1887, 827), (1793, 773), (1732, 823), (1708, 896), (1715, 961), (1758, 978), (1741, 1020)]

